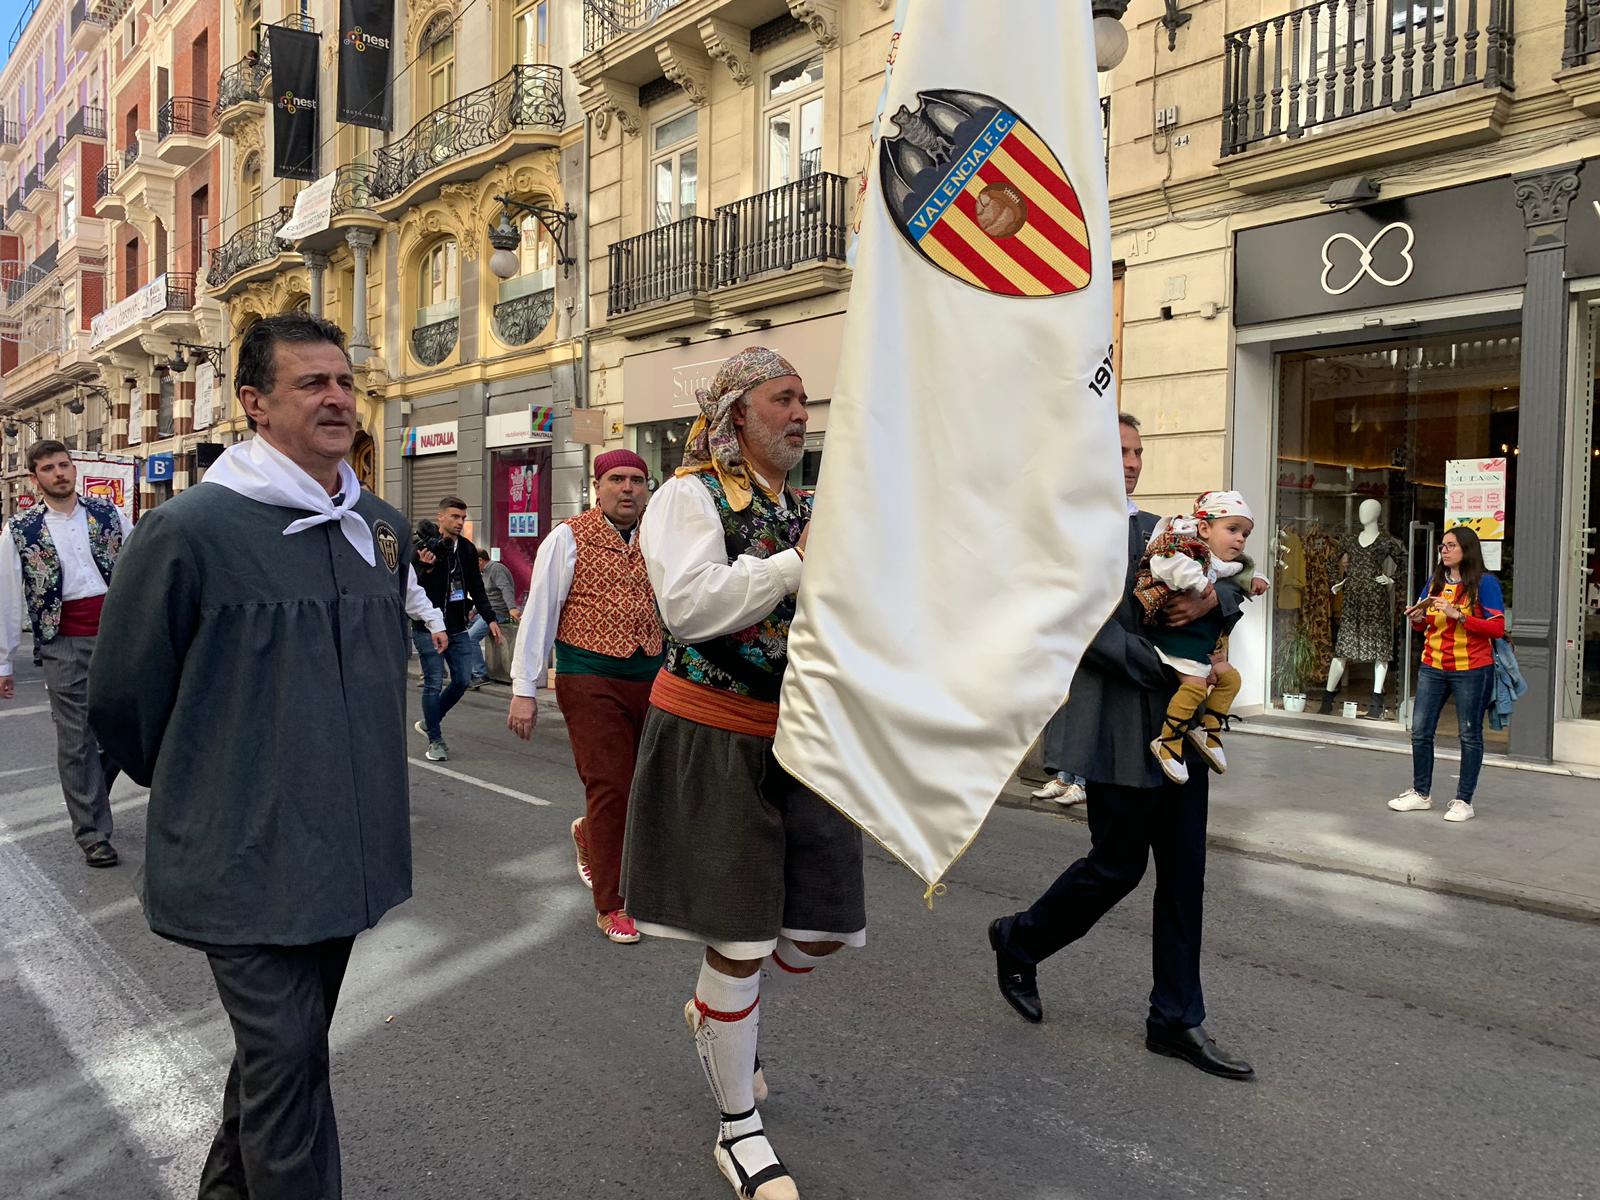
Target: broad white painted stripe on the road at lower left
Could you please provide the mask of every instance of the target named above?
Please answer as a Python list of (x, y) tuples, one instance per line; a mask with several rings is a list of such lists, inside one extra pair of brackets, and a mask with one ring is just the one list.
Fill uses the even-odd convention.
[(117, 1114), (163, 1190), (192, 1197), (216, 1131), (222, 1064), (0, 824), (0, 931), (16, 978), (82, 1077)]

